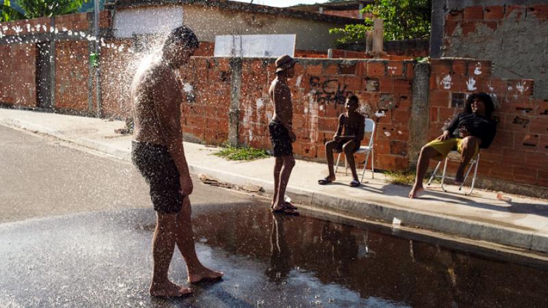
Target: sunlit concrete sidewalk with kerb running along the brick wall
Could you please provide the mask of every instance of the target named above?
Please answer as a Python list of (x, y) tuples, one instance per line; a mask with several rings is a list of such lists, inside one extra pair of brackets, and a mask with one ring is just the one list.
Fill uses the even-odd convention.
[[(129, 159), (132, 137), (114, 133), (114, 129), (125, 126), (122, 121), (0, 108), (0, 124), (45, 133)], [(230, 162), (211, 155), (218, 151), (216, 148), (190, 142), (185, 142), (184, 146), (193, 174), (202, 173), (240, 186), (260, 185), (266, 192), (272, 192), (273, 158)], [(347, 184), (351, 177), (344, 173), (338, 173), (338, 179), (332, 185), (318, 185), (317, 180), (325, 175), (325, 164), (297, 161), (288, 195), (296, 203), (328, 213), (383, 222), (397, 218), (405, 227), (548, 252), (547, 200), (505, 194), (512, 201), (499, 201), (495, 192), (482, 190), (464, 196), (456, 186), (450, 186), (447, 193), (439, 187), (430, 188), (421, 198), (409, 199), (410, 187), (390, 184), (380, 173), (371, 179), (371, 172), (366, 172), (361, 188), (350, 188)]]

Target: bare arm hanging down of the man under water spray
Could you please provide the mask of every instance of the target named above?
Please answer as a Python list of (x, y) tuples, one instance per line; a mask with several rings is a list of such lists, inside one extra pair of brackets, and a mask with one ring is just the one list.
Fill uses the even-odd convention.
[(162, 77), (158, 79), (161, 80), (157, 81), (153, 88), (154, 107), (164, 142), (179, 171), (182, 193), (188, 196), (192, 194), (193, 186), (183, 149), (181, 110), (179, 109), (182, 93), (171, 70), (160, 73)]

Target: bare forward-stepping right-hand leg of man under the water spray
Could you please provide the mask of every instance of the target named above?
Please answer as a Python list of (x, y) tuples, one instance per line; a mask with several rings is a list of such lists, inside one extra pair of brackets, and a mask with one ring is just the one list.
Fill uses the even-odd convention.
[(186, 196), (183, 199), (181, 211), (177, 213), (177, 247), (186, 262), (188, 282), (197, 283), (203, 280), (214, 280), (223, 277), (223, 272), (215, 272), (203, 266), (196, 255), (194, 245), (194, 231), (192, 230), (192, 219), (190, 199)]

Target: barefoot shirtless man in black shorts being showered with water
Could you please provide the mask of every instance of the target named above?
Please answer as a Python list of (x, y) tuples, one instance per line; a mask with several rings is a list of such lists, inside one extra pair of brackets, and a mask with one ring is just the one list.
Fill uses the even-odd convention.
[(189, 283), (223, 276), (199, 261), (190, 220), (188, 196), (193, 186), (184, 156), (179, 109), (183, 95), (175, 70), (188, 62), (197, 47), (198, 40), (191, 29), (173, 29), (164, 42), (161, 57), (138, 70), (132, 84), (132, 161), (150, 185), (157, 218), (152, 241), (152, 296), (183, 296), (192, 292), (168, 279), (175, 244), (186, 262)]

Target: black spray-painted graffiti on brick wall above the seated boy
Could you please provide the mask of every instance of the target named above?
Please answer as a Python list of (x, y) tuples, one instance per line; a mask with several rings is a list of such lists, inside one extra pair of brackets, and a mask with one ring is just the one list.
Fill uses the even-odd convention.
[(340, 84), (337, 79), (321, 81), (320, 77), (312, 76), (308, 80), (310, 94), (319, 105), (344, 105), (347, 99), (347, 85)]

